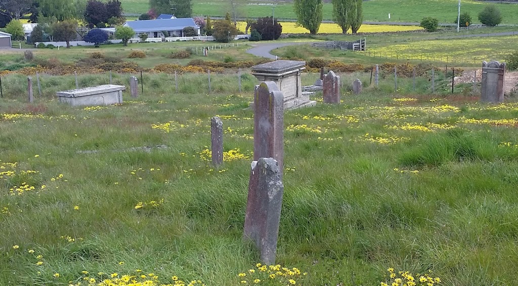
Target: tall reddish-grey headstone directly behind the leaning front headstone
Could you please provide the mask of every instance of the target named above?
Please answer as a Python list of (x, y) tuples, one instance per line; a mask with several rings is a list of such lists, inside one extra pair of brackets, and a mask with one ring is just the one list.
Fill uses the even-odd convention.
[(262, 82), (254, 92), (254, 161), (274, 158), (283, 167), (283, 94), (273, 81)]

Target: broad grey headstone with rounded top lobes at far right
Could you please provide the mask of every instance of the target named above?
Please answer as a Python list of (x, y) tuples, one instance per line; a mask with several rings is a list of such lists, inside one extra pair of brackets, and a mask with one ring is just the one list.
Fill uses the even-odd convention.
[(481, 102), (503, 102), (503, 81), (506, 76), (506, 63), (497, 61), (482, 62)]

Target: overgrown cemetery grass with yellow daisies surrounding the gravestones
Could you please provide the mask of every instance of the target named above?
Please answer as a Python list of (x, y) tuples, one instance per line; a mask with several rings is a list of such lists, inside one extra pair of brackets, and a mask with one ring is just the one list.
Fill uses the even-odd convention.
[[(207, 94), (205, 75), (182, 77), (181, 87), (199, 90), (176, 94), (170, 76), (150, 74), (139, 98), (95, 108), (56, 103), (73, 76), (42, 78), (34, 104), (25, 103), (24, 76), (2, 78), (0, 284), (253, 277), (257, 253), (241, 237), (255, 80), (243, 75), (239, 94), (235, 76), (221, 75)], [(315, 77), (304, 74), (303, 84)], [(336, 106), (316, 96), (318, 106), (285, 112), (277, 261), (306, 272), (296, 283), (307, 286), (379, 285), (389, 267), (433, 270), (444, 285), (512, 284), (515, 98), (493, 106), (471, 95), (401, 97), (390, 79), (379, 89), (367, 74), (342, 79), (357, 77), (361, 96), (346, 91)], [(205, 151), (216, 115), (228, 152), (219, 169)], [(131, 149), (142, 146), (162, 147)]]

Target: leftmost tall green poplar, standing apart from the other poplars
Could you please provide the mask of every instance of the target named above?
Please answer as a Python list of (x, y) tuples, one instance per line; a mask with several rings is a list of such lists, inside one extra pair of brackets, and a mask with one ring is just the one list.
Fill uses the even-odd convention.
[(322, 0), (294, 0), (293, 9), (297, 15), (297, 25), (316, 35), (322, 22)]

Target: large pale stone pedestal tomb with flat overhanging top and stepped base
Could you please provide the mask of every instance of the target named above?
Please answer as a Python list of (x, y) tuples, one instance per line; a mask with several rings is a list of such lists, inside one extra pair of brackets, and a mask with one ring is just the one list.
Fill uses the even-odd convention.
[(273, 81), (283, 93), (284, 109), (315, 106), (308, 94), (303, 94), (300, 74), (306, 68), (304, 61), (274, 61), (252, 67), (252, 75), (260, 82)]

